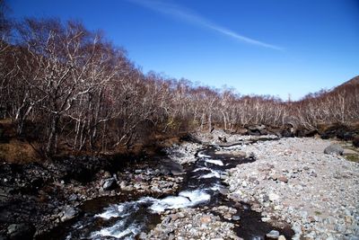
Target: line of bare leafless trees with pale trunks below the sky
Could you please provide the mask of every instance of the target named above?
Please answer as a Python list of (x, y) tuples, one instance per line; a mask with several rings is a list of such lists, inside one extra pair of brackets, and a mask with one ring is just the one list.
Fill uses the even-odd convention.
[(106, 151), (215, 125), (235, 130), (290, 119), (315, 129), (359, 119), (358, 84), (283, 102), (144, 74), (124, 49), (79, 22), (2, 16), (1, 35), (0, 116), (19, 136), (31, 132), (48, 155), (58, 147)]

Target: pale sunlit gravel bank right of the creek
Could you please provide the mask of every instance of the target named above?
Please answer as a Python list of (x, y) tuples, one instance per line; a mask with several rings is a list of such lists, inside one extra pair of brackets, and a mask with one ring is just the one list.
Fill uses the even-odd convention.
[(359, 164), (324, 154), (320, 138), (281, 138), (229, 149), (256, 162), (229, 171), (229, 197), (267, 222), (292, 225), (294, 239), (359, 239)]

